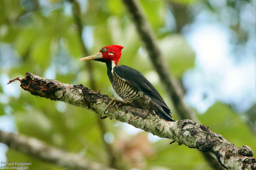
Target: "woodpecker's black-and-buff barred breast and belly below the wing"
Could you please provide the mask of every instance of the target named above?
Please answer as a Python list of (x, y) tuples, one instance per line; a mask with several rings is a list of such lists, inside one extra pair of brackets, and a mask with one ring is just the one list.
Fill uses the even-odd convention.
[[(124, 100), (124, 103), (129, 103), (133, 106), (140, 108), (146, 108), (156, 114), (158, 114), (158, 108), (152, 103), (152, 100), (144, 95), (143, 92), (130, 86), (124, 79), (120, 78), (113, 72), (112, 86), (116, 94)], [(160, 115), (160, 114), (158, 114)]]

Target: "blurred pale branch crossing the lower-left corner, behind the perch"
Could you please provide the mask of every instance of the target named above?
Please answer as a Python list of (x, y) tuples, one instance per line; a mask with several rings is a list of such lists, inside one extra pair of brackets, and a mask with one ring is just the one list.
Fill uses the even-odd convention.
[(75, 170), (115, 170), (96, 162), (82, 158), (79, 154), (69, 153), (55, 147), (49, 146), (45, 142), (24, 135), (7, 133), (0, 130), (0, 142), (8, 147), (16, 149), (22, 153), (36, 157), (43, 161), (54, 163), (60, 167)]

